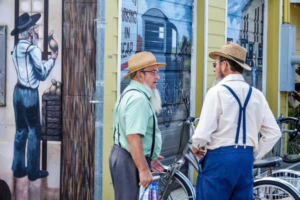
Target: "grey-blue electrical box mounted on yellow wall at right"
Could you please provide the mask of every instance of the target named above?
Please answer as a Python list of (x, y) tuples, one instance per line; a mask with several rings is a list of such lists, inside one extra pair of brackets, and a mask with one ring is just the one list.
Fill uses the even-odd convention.
[(293, 91), (295, 65), (291, 64), (291, 56), (296, 51), (296, 26), (287, 23), (280, 26), (279, 91)]

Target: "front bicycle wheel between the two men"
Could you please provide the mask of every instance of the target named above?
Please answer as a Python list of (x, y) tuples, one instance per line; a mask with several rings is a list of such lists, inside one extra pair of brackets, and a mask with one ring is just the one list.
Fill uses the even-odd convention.
[[(158, 184), (158, 195), (159, 199), (164, 191), (167, 178), (165, 178), (166, 169), (163, 172), (152, 172), (153, 182)], [(174, 183), (170, 188), (170, 193), (165, 200), (176, 200), (176, 199), (189, 199), (192, 200), (194, 196), (194, 191), (190, 185), (188, 179), (183, 178), (182, 175), (175, 173), (174, 174)]]

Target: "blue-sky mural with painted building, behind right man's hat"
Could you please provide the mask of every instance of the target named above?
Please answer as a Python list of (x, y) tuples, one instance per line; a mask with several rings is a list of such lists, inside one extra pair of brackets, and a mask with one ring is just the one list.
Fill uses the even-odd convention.
[(245, 81), (262, 90), (264, 0), (228, 0), (227, 41), (240, 44), (247, 50)]

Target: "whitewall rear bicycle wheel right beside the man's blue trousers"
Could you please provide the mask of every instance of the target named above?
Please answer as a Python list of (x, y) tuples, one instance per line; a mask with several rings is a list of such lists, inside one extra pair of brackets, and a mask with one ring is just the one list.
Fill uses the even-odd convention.
[(284, 180), (262, 178), (254, 181), (253, 199), (300, 200), (299, 191)]

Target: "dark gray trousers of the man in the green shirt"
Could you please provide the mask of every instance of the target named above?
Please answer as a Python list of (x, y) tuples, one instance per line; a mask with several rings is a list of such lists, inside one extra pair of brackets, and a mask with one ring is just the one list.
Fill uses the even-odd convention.
[(138, 199), (139, 173), (131, 154), (126, 149), (113, 144), (108, 161), (114, 189), (114, 199)]

